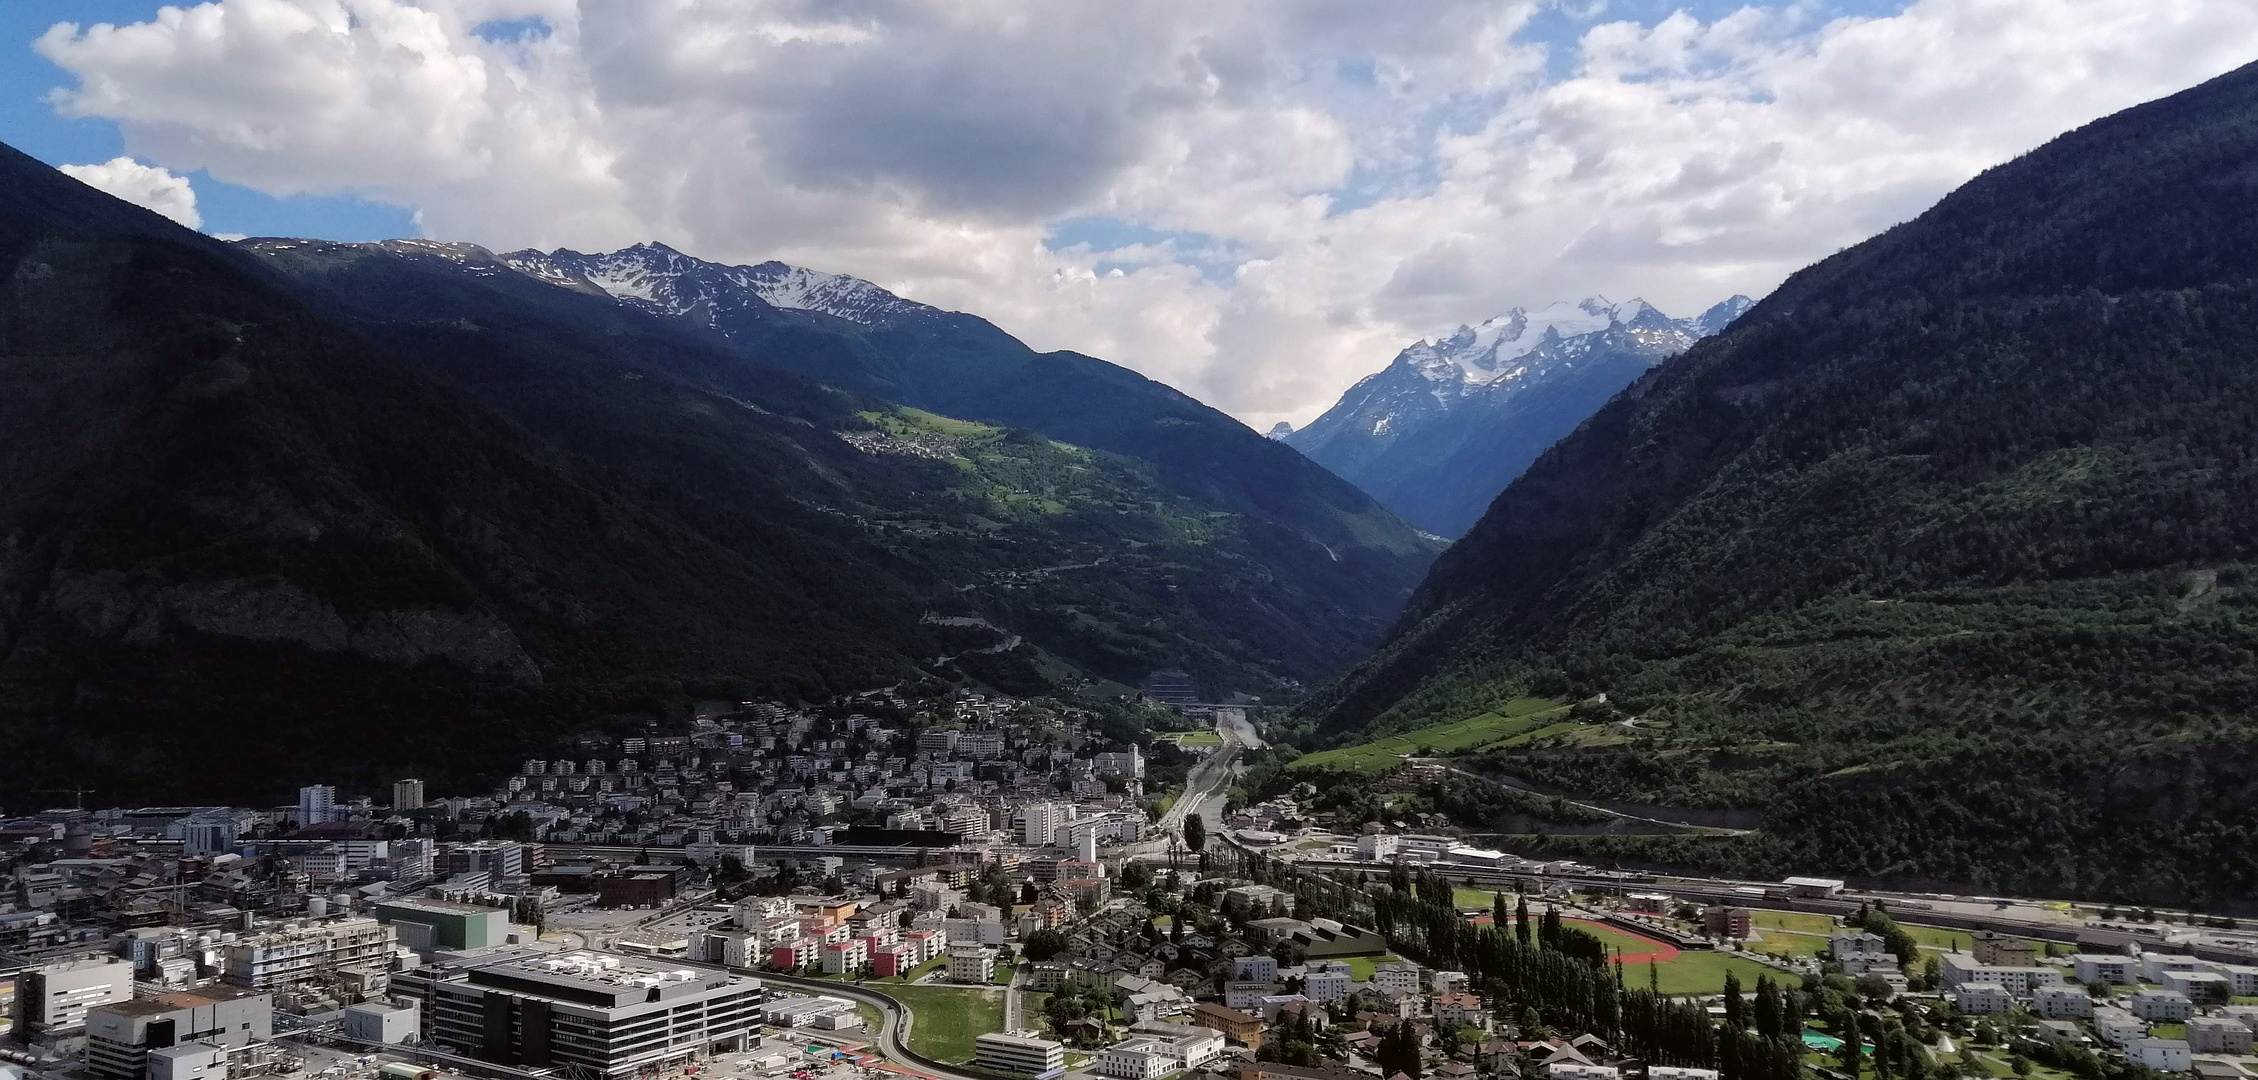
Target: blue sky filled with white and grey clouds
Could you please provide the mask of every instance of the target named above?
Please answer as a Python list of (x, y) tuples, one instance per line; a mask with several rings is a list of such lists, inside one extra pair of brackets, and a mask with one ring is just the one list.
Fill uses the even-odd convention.
[(1269, 427), (1763, 296), (2258, 0), (9, 0), (0, 56), (0, 140), (215, 235), (777, 258)]

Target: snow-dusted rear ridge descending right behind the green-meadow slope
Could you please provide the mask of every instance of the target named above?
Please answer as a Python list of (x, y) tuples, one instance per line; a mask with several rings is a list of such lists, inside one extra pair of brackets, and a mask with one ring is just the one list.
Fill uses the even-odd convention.
[(1079, 352), (1036, 352), (987, 319), (858, 278), (784, 262), (729, 267), (664, 244), (501, 260), (833, 386), (1149, 461), (1170, 490), (1240, 515), (1258, 558), (1283, 578), (1364, 619), (1391, 619), (1441, 547), (1341, 477), (1172, 386)]

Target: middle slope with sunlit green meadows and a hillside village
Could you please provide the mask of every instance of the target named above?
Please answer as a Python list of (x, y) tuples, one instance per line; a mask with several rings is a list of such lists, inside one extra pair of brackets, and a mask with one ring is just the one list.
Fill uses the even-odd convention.
[[(1368, 594), (1359, 565), (1325, 545), (1179, 490), (1154, 463), (903, 413), (470, 244), (244, 246), (542, 441), (714, 511), (826, 535), (860, 560), (840, 574), (867, 563), (935, 617), (987, 619), (1088, 676), (1134, 685), (1176, 667), (1217, 694), (1294, 694), (1377, 644), (1400, 603)], [(987, 642), (948, 653), (973, 644)], [(1034, 689), (1027, 662), (1007, 660), (971, 662)]]

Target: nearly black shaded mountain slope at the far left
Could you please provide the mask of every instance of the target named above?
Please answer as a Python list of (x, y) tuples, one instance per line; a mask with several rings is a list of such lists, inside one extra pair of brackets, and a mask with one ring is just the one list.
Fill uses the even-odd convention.
[(205, 237), (0, 174), (0, 786), (452, 777), (682, 680), (867, 687), (930, 651), (835, 545), (714, 529)]

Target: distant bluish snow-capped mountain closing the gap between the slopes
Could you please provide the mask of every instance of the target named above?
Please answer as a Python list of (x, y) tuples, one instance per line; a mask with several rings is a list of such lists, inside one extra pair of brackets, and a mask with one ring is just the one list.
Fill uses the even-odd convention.
[(1750, 303), (1734, 296), (1698, 319), (1603, 296), (1515, 307), (1398, 352), (1310, 427), (1274, 436), (1407, 522), (1456, 538), (1544, 447)]

